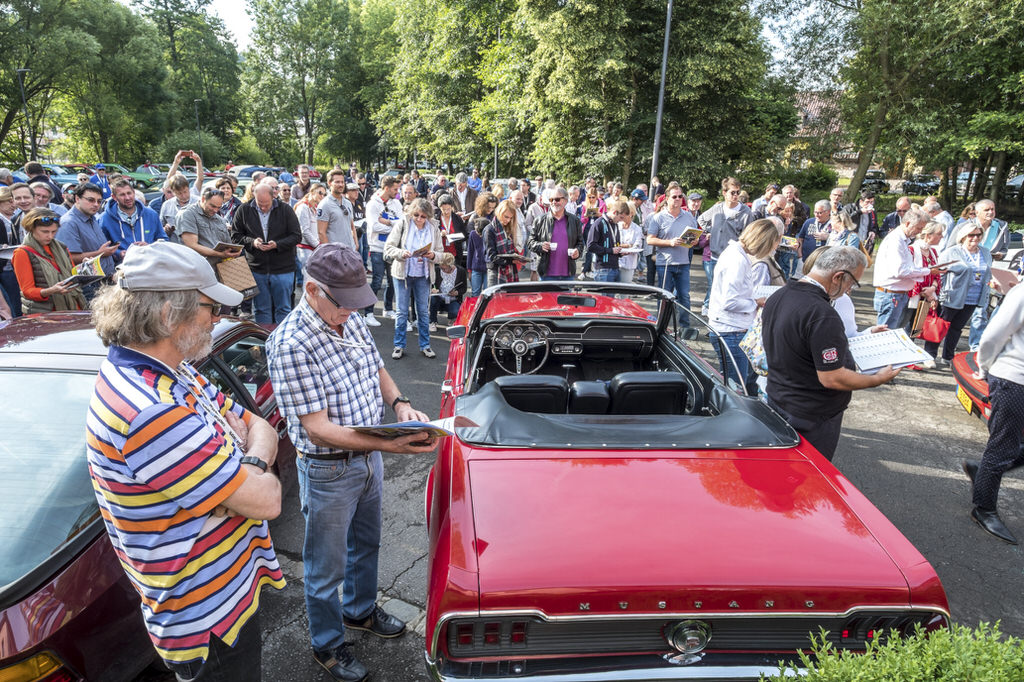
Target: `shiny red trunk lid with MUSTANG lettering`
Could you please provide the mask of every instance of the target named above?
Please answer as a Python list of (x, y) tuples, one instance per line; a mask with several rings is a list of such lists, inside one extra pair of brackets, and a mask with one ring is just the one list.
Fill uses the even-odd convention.
[(709, 455), (471, 461), (480, 608), (822, 612), (909, 603), (898, 566), (811, 462), (784, 451)]

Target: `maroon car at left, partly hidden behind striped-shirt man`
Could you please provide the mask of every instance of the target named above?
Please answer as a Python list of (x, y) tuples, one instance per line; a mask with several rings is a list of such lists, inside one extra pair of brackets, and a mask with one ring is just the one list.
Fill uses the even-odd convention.
[[(295, 450), (263, 355), (266, 331), (224, 318), (213, 337), (213, 351), (197, 367), (278, 429), (279, 474), (294, 485)], [(160, 666), (89, 478), (85, 419), (105, 356), (88, 313), (0, 326), (3, 682), (116, 682)]]

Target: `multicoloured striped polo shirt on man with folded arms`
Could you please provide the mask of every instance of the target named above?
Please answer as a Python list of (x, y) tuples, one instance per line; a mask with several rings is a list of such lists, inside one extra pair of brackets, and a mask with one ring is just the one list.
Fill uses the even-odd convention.
[(187, 363), (174, 371), (118, 346), (89, 404), (99, 510), (169, 662), (205, 660), (211, 635), (233, 645), (260, 588), (285, 587), (266, 521), (212, 514), (248, 475), (225, 428), (228, 411), (252, 418)]

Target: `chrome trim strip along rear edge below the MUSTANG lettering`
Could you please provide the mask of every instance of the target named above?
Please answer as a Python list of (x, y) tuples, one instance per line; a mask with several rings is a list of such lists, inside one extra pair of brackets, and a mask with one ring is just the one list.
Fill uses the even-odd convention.
[[(586, 615), (548, 615), (544, 611), (538, 610), (536, 608), (522, 608), (522, 609), (499, 609), (494, 611), (450, 611), (444, 613), (439, 619), (437, 619), (437, 624), (434, 626), (433, 636), (430, 638), (430, 647), (427, 649), (426, 654), (428, 658), (430, 656), (437, 655), (437, 638), (441, 631), (441, 626), (453, 619), (486, 619), (486, 617), (516, 617), (516, 616), (536, 616), (542, 621), (547, 621), (548, 623), (558, 623), (562, 621), (641, 621), (649, 619), (698, 619), (706, 621), (712, 617), (727, 617), (727, 619), (777, 619), (777, 617), (831, 617), (841, 619), (848, 617), (854, 613), (860, 613), (863, 611), (908, 611), (908, 612), (925, 612), (925, 613), (940, 613), (946, 616), (946, 620), (950, 620), (949, 611), (944, 608), (938, 608), (935, 606), (897, 606), (894, 604), (874, 604), (865, 606), (854, 606), (845, 611), (656, 611), (656, 612), (643, 612), (643, 613), (593, 613)], [(668, 645), (667, 645), (668, 646)]]

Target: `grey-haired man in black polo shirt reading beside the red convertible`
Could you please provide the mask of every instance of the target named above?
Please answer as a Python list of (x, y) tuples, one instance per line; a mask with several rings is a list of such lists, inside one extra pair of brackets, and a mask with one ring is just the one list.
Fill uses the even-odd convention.
[(843, 321), (831, 301), (859, 287), (867, 259), (853, 247), (822, 253), (804, 279), (768, 297), (762, 336), (768, 360), (768, 403), (831, 461), (851, 391), (899, 374), (856, 372)]

